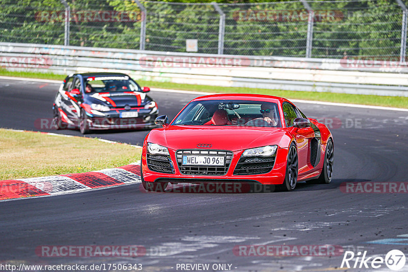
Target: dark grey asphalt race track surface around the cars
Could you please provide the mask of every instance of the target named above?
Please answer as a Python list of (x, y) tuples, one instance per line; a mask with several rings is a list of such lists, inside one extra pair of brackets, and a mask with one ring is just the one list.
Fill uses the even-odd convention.
[[(39, 118), (53, 117), (57, 90), (57, 84), (0, 80), (0, 127), (57, 132), (35, 125)], [(150, 95), (158, 102), (160, 114), (169, 119), (196, 96), (154, 91)], [(187, 263), (231, 264), (233, 271), (325, 271), (340, 269), (343, 254), (237, 256), (233, 249), (329, 244), (355, 254), (367, 251), (367, 257), (384, 257), (392, 249), (407, 254), (408, 194), (343, 193), (340, 184), (408, 182), (408, 112), (297, 105), (309, 117), (333, 123), (335, 173), (330, 184), (301, 182), (293, 192), (252, 194), (145, 193), (140, 184), (134, 184), (1, 202), (0, 261), (140, 263), (144, 271), (176, 271), (177, 264)], [(76, 130), (58, 133), (81, 135)], [(114, 131), (89, 136), (141, 145), (147, 133)], [(239, 141), (239, 136), (231, 137)], [(35, 251), (41, 246), (126, 245), (142, 246), (146, 254), (39, 257)], [(385, 264), (376, 270), (391, 271)], [(400, 271), (407, 270), (405, 265)]]

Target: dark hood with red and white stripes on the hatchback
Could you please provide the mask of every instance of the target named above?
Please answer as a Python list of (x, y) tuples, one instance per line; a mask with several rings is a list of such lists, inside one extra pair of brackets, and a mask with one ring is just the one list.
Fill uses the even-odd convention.
[(139, 92), (94, 93), (90, 97), (100, 101), (106, 100), (115, 107), (124, 107), (125, 105), (131, 107), (143, 106), (146, 101), (150, 101), (146, 94)]

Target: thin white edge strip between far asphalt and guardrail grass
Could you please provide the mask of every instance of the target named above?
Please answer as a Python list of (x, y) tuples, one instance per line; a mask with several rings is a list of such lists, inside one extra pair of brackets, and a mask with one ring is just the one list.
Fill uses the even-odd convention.
[[(26, 77), (12, 77), (12, 76), (0, 76), (0, 79), (11, 79), (11, 80), (22, 80), (22, 81), (37, 81), (37, 82), (57, 83), (57, 84), (61, 83), (61, 80), (49, 80), (49, 79), (26, 78)], [(207, 92), (195, 92), (195, 91), (172, 90), (172, 89), (161, 89), (161, 88), (150, 88), (150, 89), (152, 91), (156, 91), (156, 92), (181, 93), (181, 94), (198, 94), (198, 95), (216, 94), (216, 93), (207, 93)], [(343, 106), (343, 107), (360, 107), (360, 108), (370, 108), (370, 109), (373, 109), (373, 110), (408, 112), (408, 108), (398, 108), (398, 107), (371, 106), (371, 105), (347, 104), (347, 103), (335, 103), (335, 102), (323, 102), (323, 101), (299, 100), (299, 99), (290, 99), (290, 101), (295, 102), (295, 103), (308, 103), (308, 104)]]

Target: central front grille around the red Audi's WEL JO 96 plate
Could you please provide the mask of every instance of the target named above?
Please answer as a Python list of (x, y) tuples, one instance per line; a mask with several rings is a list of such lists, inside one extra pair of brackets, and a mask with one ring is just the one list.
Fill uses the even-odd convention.
[[(176, 152), (177, 165), (179, 165), (180, 173), (184, 175), (217, 175), (223, 176), (230, 167), (233, 158), (232, 151), (226, 150), (179, 150)], [(183, 166), (183, 155), (218, 155), (225, 157), (224, 166)]]

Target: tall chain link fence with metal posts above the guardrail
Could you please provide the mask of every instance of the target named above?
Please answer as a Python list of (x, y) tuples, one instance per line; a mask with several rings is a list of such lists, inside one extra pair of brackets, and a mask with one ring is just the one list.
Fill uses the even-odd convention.
[[(408, 0), (0, 1), (0, 41), (246, 56), (405, 58)], [(195, 46), (196, 42), (196, 46)]]

